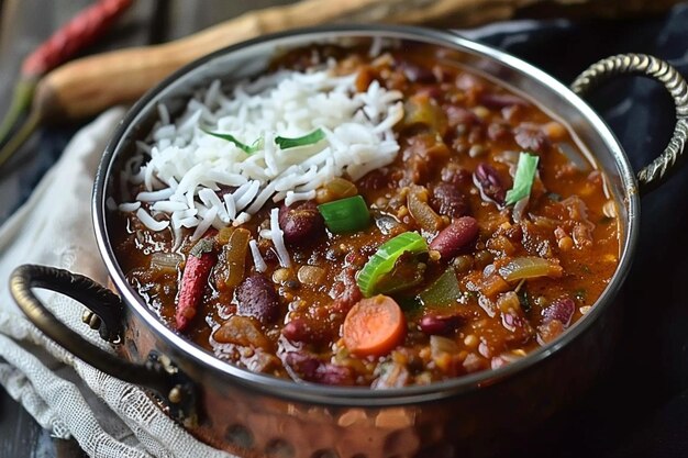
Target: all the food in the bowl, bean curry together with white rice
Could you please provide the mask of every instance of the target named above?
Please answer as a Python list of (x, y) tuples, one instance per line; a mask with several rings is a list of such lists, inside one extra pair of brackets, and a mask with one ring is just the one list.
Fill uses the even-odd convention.
[(162, 107), (121, 172), (127, 280), (218, 358), (378, 389), (460, 377), (555, 339), (617, 268), (615, 203), (565, 124), (454, 52), (373, 47)]

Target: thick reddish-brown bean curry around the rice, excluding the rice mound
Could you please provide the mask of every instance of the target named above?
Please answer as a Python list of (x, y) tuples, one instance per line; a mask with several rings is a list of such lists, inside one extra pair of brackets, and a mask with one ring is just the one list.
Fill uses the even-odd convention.
[[(302, 69), (328, 58), (337, 60), (336, 71), (356, 72), (359, 90), (377, 80), (403, 93), (404, 118), (395, 126), (397, 159), (345, 191), (363, 197), (369, 224), (333, 234), (323, 223), (317, 205), (343, 197), (337, 191), (346, 188), (344, 181), (319, 189), (315, 201), (281, 208), (292, 262), (282, 268), (273, 243), (259, 236), (276, 206), (268, 201), (240, 226), (257, 241), (267, 268), (258, 272), (246, 249), (242, 281), (230, 287), (232, 230), (210, 230), (212, 267), (180, 333), (249, 370), (385, 388), (502, 366), (579, 320), (617, 268), (619, 225), (602, 174), (567, 127), (523, 96), (453, 64), (451, 52), (428, 45), (376, 57), (367, 47), (299, 49), (275, 67)], [(522, 152), (539, 157), (537, 174), (526, 203), (506, 204)], [(130, 191), (135, 196), (137, 187)], [(111, 230), (127, 280), (177, 328), (184, 271), (197, 245), (192, 231), (176, 249), (181, 262), (169, 268), (152, 266), (151, 258), (173, 250), (171, 231), (153, 232), (125, 212), (118, 212)], [(402, 233), (420, 234), (429, 249), (402, 255), (388, 278), (388, 284), (399, 286), (385, 294), (401, 311), (397, 332), (387, 339), (359, 333), (382, 344), (352, 344), (351, 314), (373, 301), (364, 300), (358, 275), (380, 245)], [(447, 282), (450, 275), (456, 281)], [(437, 289), (439, 279), (451, 287)], [(255, 299), (266, 294), (267, 300)], [(246, 303), (252, 301), (271, 301), (269, 316), (268, 305)]]

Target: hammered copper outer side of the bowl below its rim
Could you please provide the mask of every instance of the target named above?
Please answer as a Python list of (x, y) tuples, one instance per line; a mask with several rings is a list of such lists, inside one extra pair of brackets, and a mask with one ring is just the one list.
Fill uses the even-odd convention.
[[(198, 424), (186, 427), (242, 458), (493, 456), (528, 442), (534, 425), (570, 405), (600, 376), (614, 349), (618, 309), (602, 315), (577, 345), (517, 378), (490, 380), (468, 395), (428, 403), (340, 407), (293, 402), (180, 365), (203, 393)], [(135, 314), (127, 313), (126, 329), (120, 349), (132, 361), (145, 361), (151, 351), (174, 353)]]

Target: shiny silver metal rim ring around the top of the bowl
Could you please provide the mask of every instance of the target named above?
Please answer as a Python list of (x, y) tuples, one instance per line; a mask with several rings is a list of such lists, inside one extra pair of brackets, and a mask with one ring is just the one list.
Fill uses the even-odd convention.
[[(625, 191), (625, 206), (628, 210), (626, 238), (621, 247), (621, 256), (617, 271), (612, 276), (609, 284), (599, 297), (590, 312), (568, 328), (561, 337), (553, 343), (540, 347), (525, 357), (510, 362), (501, 368), (487, 369), (454, 379), (430, 383), (426, 386), (413, 386), (403, 388), (393, 388), (386, 390), (371, 390), (367, 387), (330, 387), (314, 383), (298, 383), (291, 380), (278, 379), (271, 376), (252, 372), (247, 369), (233, 366), (223, 361), (209, 351), (204, 350), (197, 344), (176, 334), (171, 328), (167, 327), (157, 316), (155, 316), (143, 299), (126, 282), (121, 271), (112, 245), (110, 244), (108, 226), (106, 222), (106, 187), (108, 177), (112, 172), (112, 166), (120, 145), (126, 141), (125, 136), (136, 116), (162, 92), (166, 87), (170, 86), (178, 78), (198, 70), (207, 63), (219, 56), (230, 54), (254, 45), (279, 42), (282, 38), (293, 36), (323, 35), (335, 34), (337, 37), (345, 36), (367, 36), (367, 37), (389, 37), (401, 40), (417, 40), (437, 45), (448, 46), (451, 48), (464, 49), (481, 55), (485, 58), (497, 60), (502, 65), (511, 67), (511, 69), (528, 75), (530, 78), (540, 80), (546, 85), (552, 91), (556, 92), (570, 102), (580, 114), (595, 127), (597, 134), (602, 138), (613, 155), (618, 167), (619, 177), (623, 183)], [(199, 70), (202, 71), (202, 70)], [(536, 100), (536, 99), (535, 99)], [(311, 403), (321, 403), (329, 405), (366, 405), (366, 406), (389, 406), (403, 405), (418, 402), (428, 402), (445, 399), (451, 395), (465, 393), (479, 389), (482, 386), (492, 384), (497, 381), (511, 378), (517, 373), (531, 368), (539, 361), (542, 361), (556, 351), (575, 340), (580, 334), (587, 331), (598, 316), (606, 311), (619, 292), (623, 280), (625, 279), (631, 260), (634, 254), (640, 216), (640, 199), (636, 189), (635, 177), (630, 166), (629, 159), (619, 144), (618, 139), (610, 131), (607, 123), (592, 110), (580, 97), (576, 96), (570, 89), (562, 82), (514, 56), (498, 51), (488, 45), (464, 38), (458, 34), (448, 31), (437, 31), (418, 26), (404, 25), (326, 25), (301, 29), (296, 31), (281, 32), (270, 34), (257, 38), (253, 38), (236, 45), (232, 45), (215, 51), (204, 57), (201, 57), (181, 69), (175, 71), (164, 81), (151, 89), (143, 96), (126, 113), (124, 119), (118, 125), (111, 141), (103, 153), (92, 193), (92, 217), (95, 233), (98, 247), (108, 268), (110, 277), (116, 289), (120, 291), (123, 302), (151, 326), (158, 338), (167, 340), (173, 347), (178, 349), (185, 356), (192, 358), (200, 364), (203, 369), (215, 371), (221, 377), (232, 377), (237, 384), (242, 384), (252, 390), (265, 392), (280, 398), (306, 401)]]

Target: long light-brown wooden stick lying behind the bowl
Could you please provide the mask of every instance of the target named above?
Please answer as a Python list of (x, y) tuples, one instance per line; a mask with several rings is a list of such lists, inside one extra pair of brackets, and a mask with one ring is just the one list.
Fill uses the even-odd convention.
[[(252, 11), (185, 38), (85, 57), (49, 72), (38, 85), (34, 109), (43, 119), (80, 119), (130, 103), (189, 62), (267, 33), (335, 22), (441, 23), (473, 26), (508, 19), (544, 0), (303, 0)], [(595, 3), (598, 12), (666, 9), (676, 0), (558, 0)]]

